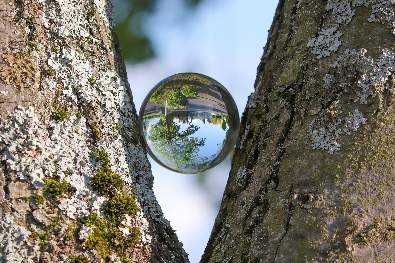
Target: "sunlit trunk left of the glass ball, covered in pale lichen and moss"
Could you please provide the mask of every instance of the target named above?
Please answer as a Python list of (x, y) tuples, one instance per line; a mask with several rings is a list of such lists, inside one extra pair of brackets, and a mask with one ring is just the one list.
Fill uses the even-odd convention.
[(0, 14), (0, 262), (188, 262), (152, 192), (111, 2)]

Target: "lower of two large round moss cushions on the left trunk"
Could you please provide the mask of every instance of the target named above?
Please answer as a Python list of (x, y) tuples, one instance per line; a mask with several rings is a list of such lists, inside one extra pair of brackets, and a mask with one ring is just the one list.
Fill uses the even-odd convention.
[(125, 193), (117, 194), (107, 202), (105, 208), (114, 218), (119, 218), (123, 214), (134, 216), (139, 210), (134, 198)]

